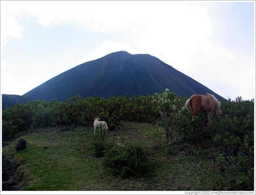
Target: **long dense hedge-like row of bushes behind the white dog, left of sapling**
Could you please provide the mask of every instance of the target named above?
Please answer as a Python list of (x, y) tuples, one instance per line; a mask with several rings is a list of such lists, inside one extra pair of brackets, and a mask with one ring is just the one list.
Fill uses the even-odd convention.
[(114, 130), (120, 121), (154, 122), (159, 117), (152, 96), (71, 97), (65, 102), (56, 100), (28, 101), (3, 111), (3, 121), (10, 122), (11, 137), (19, 136), (27, 129), (52, 125), (91, 125), (93, 118), (105, 118)]

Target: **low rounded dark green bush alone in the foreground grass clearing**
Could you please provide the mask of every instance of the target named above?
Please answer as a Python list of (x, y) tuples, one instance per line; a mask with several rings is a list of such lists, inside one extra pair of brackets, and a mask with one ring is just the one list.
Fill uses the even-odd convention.
[(115, 143), (106, 154), (104, 165), (120, 178), (141, 176), (149, 170), (147, 153), (138, 144), (122, 146), (120, 142)]

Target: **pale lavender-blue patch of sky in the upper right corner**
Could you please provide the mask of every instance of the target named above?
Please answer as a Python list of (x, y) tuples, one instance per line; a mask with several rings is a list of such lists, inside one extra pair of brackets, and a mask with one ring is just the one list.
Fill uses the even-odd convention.
[(226, 47), (253, 55), (253, 2), (212, 3), (215, 40)]

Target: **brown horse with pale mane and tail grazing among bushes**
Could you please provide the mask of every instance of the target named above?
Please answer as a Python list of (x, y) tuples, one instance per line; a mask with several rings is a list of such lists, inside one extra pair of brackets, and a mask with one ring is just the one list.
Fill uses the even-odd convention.
[(208, 122), (212, 123), (213, 112), (216, 109), (217, 116), (222, 115), (219, 100), (212, 94), (192, 95), (185, 104), (186, 108), (190, 107), (191, 116), (194, 117), (199, 111), (205, 111), (208, 115)]

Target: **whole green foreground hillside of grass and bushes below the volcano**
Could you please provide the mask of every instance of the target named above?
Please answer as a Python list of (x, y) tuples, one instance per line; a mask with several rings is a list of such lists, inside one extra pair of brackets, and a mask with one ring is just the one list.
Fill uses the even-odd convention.
[[(25, 190), (253, 190), (254, 100), (221, 102), (223, 116), (207, 125), (185, 98), (159, 97), (171, 128), (154, 96), (17, 104), (3, 111), (3, 138), (16, 139), (3, 154)], [(108, 123), (105, 140), (93, 135), (97, 117)], [(27, 147), (16, 152), (19, 136)]]

